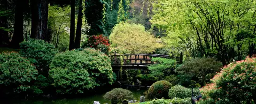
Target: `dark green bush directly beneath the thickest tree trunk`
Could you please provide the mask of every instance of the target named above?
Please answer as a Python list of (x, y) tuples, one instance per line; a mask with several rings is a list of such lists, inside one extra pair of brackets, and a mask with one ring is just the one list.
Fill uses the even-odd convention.
[(28, 58), (37, 68), (48, 69), (58, 50), (44, 40), (32, 39), (20, 43), (21, 55)]

